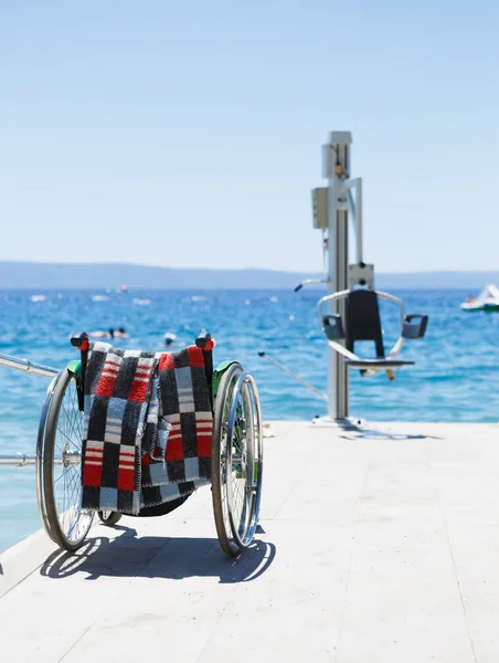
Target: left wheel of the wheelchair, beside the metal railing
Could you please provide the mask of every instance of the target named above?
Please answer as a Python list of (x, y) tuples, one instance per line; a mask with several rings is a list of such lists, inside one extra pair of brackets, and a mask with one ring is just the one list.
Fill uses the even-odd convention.
[(94, 517), (81, 508), (83, 413), (76, 380), (64, 369), (47, 390), (36, 446), (39, 511), (46, 533), (61, 548), (76, 550)]

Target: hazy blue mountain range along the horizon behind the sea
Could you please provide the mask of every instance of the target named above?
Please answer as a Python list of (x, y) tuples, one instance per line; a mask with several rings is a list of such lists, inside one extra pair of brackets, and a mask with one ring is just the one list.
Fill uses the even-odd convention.
[[(291, 288), (321, 273), (273, 270), (187, 270), (121, 263), (36, 263), (0, 261), (0, 288), (104, 290), (127, 284), (130, 288)], [(378, 288), (478, 290), (499, 284), (499, 272), (414, 272), (376, 275)]]

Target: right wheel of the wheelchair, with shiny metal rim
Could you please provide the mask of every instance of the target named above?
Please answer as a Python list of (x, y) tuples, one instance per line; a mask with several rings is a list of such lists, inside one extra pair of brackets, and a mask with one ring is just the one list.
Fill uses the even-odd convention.
[(215, 399), (212, 497), (222, 549), (237, 556), (251, 545), (258, 524), (263, 477), (263, 431), (253, 376), (233, 364)]

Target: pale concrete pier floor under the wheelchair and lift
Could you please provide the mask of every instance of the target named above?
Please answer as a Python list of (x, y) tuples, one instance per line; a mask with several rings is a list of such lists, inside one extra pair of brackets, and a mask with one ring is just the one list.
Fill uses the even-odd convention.
[(6, 663), (499, 661), (499, 425), (275, 422), (256, 543), (209, 488), (161, 518), (0, 556)]

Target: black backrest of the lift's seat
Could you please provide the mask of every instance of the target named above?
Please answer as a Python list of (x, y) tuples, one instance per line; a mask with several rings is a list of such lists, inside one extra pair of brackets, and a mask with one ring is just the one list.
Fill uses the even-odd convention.
[(353, 352), (355, 340), (373, 340), (376, 347), (376, 358), (384, 358), (376, 293), (367, 290), (351, 291), (347, 295), (344, 317), (347, 348)]

